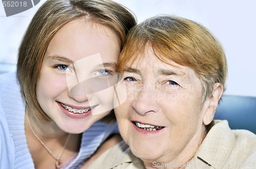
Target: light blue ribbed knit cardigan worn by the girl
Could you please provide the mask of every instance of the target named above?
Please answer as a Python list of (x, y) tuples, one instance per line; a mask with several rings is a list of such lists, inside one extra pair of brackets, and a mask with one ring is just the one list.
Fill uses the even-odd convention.
[[(0, 168), (35, 168), (25, 135), (25, 102), (20, 92), (16, 72), (0, 74)], [(77, 157), (67, 168), (79, 168), (117, 124), (94, 123), (82, 134)]]

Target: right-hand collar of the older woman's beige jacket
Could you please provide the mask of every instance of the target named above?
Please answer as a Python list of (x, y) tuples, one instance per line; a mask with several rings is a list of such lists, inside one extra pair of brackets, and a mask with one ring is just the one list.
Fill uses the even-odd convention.
[(188, 162), (187, 166), (192, 166), (193, 168), (206, 166), (222, 168), (228, 154), (231, 153), (232, 145), (236, 142), (236, 137), (232, 134), (228, 122), (226, 120), (215, 120), (210, 125), (212, 127), (204, 138), (196, 155)]

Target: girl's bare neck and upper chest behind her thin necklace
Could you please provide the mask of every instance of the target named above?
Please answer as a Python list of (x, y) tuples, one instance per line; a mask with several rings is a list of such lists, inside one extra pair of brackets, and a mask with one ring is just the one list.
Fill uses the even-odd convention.
[[(26, 114), (25, 114), (26, 115)], [(29, 116), (29, 115), (28, 115)], [(41, 123), (32, 116), (25, 116), (25, 134), (27, 138), (27, 144), (32, 156), (33, 162), (37, 168), (52, 168), (55, 167), (56, 159), (49, 153), (48, 150), (41, 144), (36, 138), (34, 133), (40, 138), (40, 140), (49, 148), (49, 150), (55, 155), (59, 156), (69, 133), (62, 131), (55, 123)], [(75, 153), (79, 152), (81, 145), (82, 134), (71, 134), (67, 142), (67, 146), (61, 156), (62, 162), (67, 161)], [(49, 164), (49, 167), (48, 167)], [(47, 165), (47, 166), (46, 166)]]

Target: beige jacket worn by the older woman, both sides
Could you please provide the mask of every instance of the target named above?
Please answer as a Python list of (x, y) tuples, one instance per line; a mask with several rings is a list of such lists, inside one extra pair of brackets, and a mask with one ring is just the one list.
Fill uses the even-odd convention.
[[(153, 166), (174, 166), (153, 163)], [(181, 165), (181, 164), (179, 164)], [(256, 135), (247, 130), (231, 130), (227, 121), (213, 121), (212, 127), (186, 168), (256, 168)], [(120, 142), (97, 158), (89, 169), (145, 168), (129, 147)]]

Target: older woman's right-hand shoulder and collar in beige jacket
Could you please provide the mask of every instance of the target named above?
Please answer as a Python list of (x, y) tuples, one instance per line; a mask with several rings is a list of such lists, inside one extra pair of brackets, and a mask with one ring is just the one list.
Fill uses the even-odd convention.
[(248, 130), (231, 130), (226, 120), (216, 120), (188, 166), (254, 168), (255, 159), (256, 135)]

